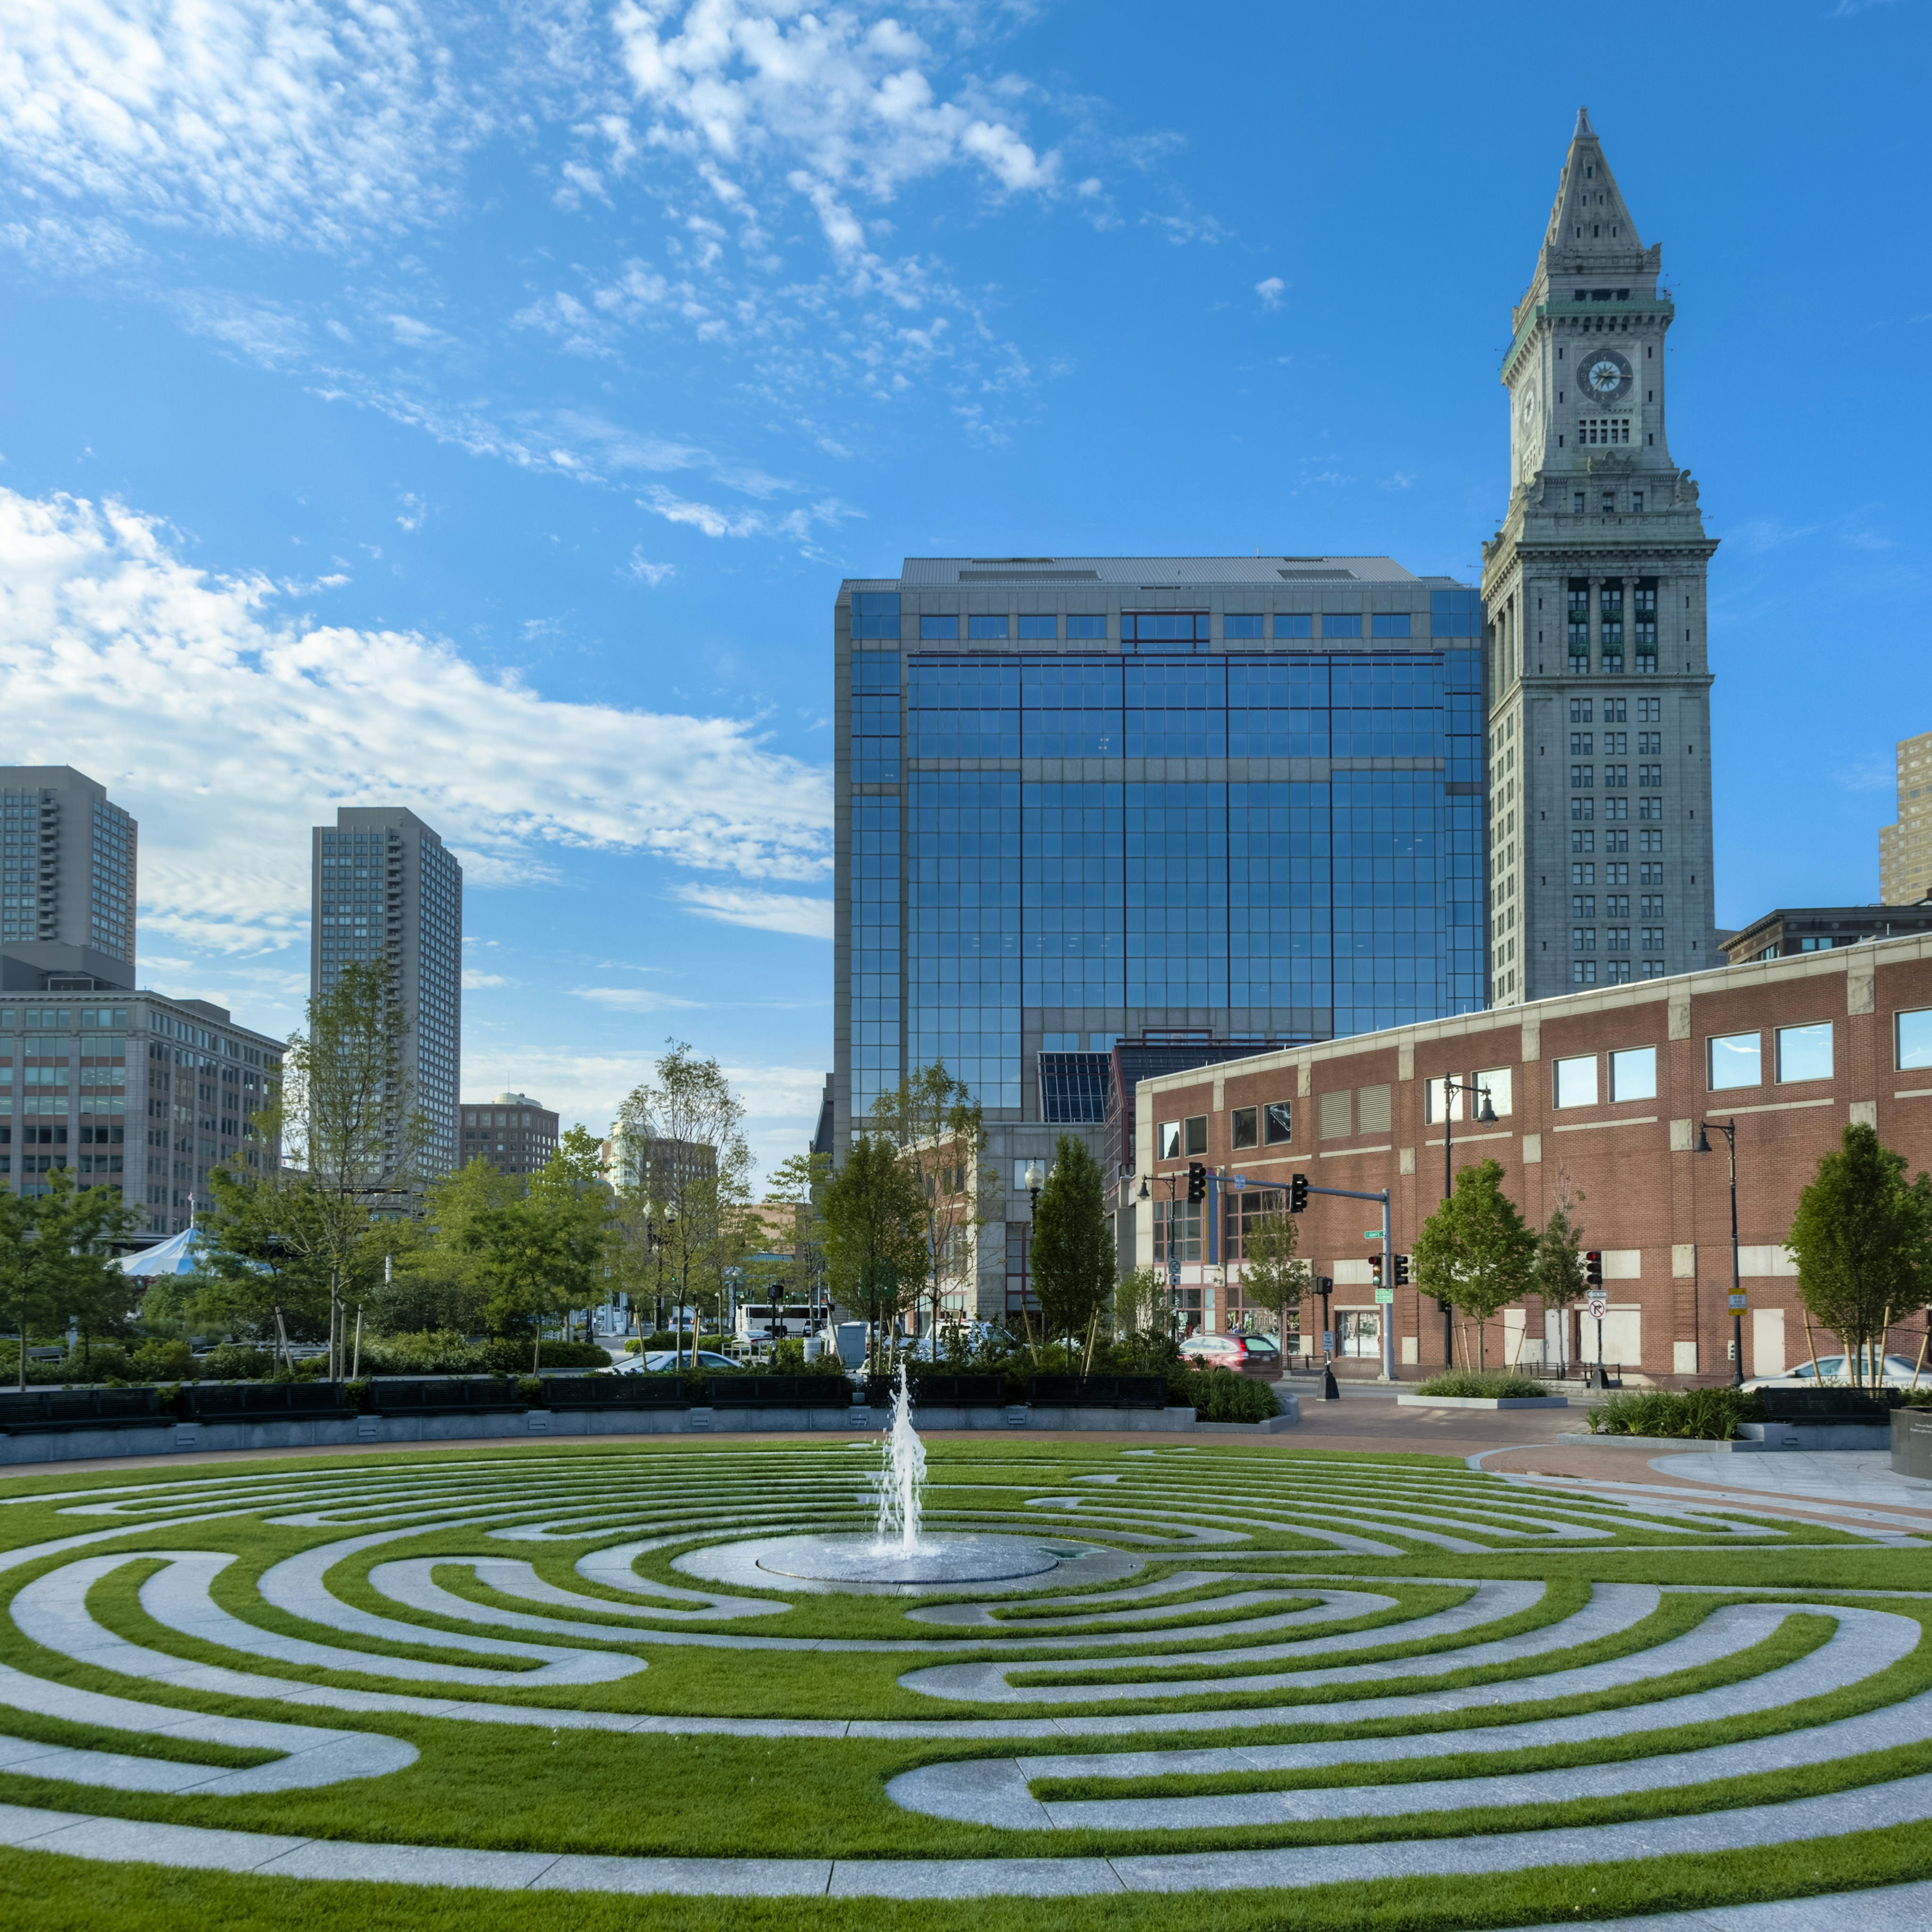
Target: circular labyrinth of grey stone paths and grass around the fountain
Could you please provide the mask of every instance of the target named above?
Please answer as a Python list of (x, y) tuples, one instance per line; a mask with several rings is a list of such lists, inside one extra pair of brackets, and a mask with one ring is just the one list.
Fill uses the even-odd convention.
[(786, 1575), (869, 1530), (877, 1470), (877, 1439), (684, 1439), (4, 1484), (14, 1895), (1476, 1926), (1932, 1874), (1905, 1524), (933, 1441), (927, 1530), (1034, 1575)]

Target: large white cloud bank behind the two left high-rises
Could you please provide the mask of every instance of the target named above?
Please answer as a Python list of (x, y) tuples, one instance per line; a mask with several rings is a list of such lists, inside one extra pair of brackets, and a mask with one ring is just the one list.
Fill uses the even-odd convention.
[(471, 883), (541, 875), (572, 846), (829, 871), (829, 775), (752, 726), (558, 703), (433, 638), (282, 612), (282, 595), (189, 568), (122, 504), (0, 489), (8, 753), (77, 763), (135, 813), (145, 931), (290, 945), (309, 827), (352, 800), (421, 811)]

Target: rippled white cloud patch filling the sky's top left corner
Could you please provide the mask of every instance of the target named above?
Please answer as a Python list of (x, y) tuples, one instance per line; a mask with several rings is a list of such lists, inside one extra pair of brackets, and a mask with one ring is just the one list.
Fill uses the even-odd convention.
[(440, 213), (471, 133), (412, 0), (0, 0), (0, 160), (56, 209), (338, 247)]

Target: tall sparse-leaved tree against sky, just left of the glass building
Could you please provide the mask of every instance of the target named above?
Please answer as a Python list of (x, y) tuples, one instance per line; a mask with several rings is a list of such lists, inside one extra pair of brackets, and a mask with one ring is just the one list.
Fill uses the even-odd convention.
[[(663, 1273), (696, 1314), (705, 1300), (723, 1298), (724, 1269), (744, 1248), (742, 1215), (752, 1200), (744, 1101), (715, 1059), (672, 1039), (655, 1078), (624, 1101), (618, 1130), (647, 1150), (626, 1180), (643, 1194), (647, 1238)], [(682, 1347), (680, 1335), (680, 1360)]]

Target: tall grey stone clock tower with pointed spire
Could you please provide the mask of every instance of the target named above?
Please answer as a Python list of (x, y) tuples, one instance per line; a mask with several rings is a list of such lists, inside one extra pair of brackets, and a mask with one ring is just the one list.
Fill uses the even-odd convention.
[(1698, 489), (1671, 462), (1677, 309), (1577, 112), (1513, 317), (1509, 512), (1482, 547), (1490, 1001), (1721, 962)]

